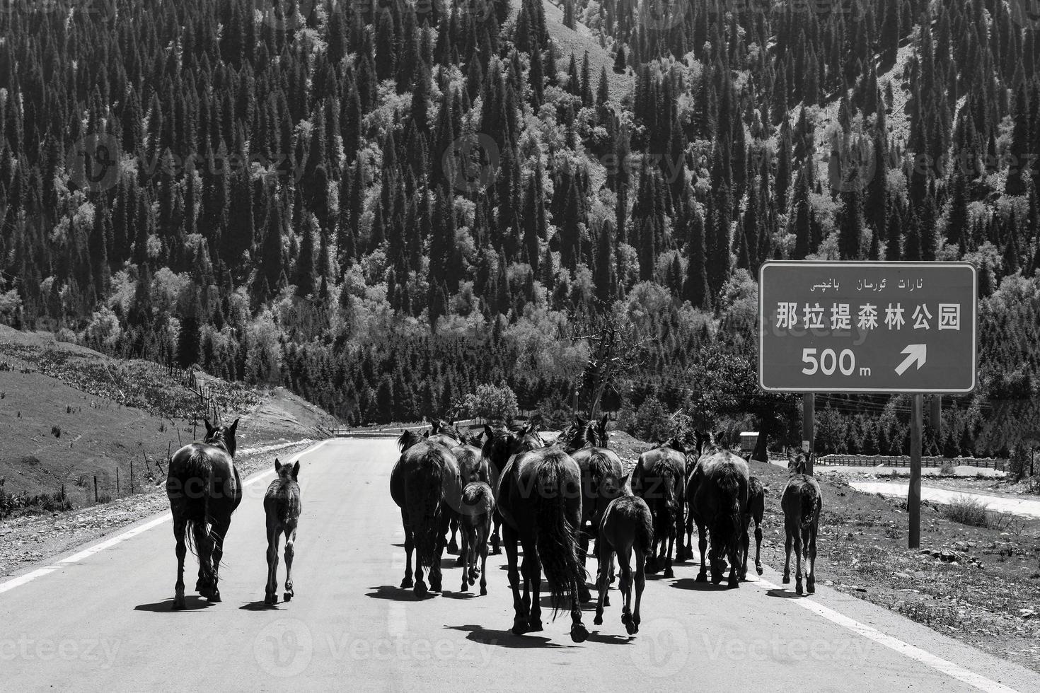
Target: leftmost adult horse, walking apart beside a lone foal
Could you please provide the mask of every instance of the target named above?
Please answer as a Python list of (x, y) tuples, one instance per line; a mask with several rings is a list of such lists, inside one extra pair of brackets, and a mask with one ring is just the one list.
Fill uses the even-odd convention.
[(196, 591), (210, 603), (220, 601), (218, 587), (224, 539), (231, 515), (242, 502), (242, 481), (235, 469), (235, 431), (230, 426), (206, 424), (202, 443), (189, 443), (174, 453), (166, 474), (166, 498), (174, 516), (177, 541), (177, 584), (174, 610), (184, 609), (184, 557), (187, 548), (199, 557)]

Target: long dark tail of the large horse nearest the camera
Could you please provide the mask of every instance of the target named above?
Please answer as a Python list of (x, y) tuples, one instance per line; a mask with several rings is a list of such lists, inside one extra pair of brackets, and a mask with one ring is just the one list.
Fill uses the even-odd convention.
[(553, 619), (565, 599), (574, 599), (577, 581), (583, 575), (578, 561), (577, 530), (567, 518), (565, 498), (566, 494), (579, 489), (564, 488), (565, 459), (565, 453), (553, 450), (535, 471), (535, 545), (549, 582)]

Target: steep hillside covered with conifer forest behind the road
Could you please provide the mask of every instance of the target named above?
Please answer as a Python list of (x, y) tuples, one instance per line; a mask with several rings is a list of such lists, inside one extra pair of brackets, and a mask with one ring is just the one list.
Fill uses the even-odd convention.
[[(0, 148), (4, 322), (348, 422), (483, 382), (587, 406), (574, 325), (614, 315), (640, 357), (607, 408), (783, 434), (763, 260), (966, 259), (981, 388), (929, 446), (1040, 437), (1009, 404), (1040, 357), (1020, 0), (28, 3), (0, 12)], [(901, 451), (905, 401), (821, 401), (823, 450)]]

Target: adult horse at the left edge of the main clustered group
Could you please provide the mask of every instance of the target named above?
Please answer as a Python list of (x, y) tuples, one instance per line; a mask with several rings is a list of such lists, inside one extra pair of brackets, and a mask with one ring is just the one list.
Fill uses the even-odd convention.
[(390, 473), (390, 496), (400, 508), (405, 528), (405, 579), (412, 587), (412, 551), (415, 550), (415, 594), (427, 593), (422, 569), (430, 575), (430, 589), (441, 591), (441, 554), (444, 534), (462, 500), (462, 477), (451, 451), (440, 443), (406, 430), (397, 438), (400, 457)]

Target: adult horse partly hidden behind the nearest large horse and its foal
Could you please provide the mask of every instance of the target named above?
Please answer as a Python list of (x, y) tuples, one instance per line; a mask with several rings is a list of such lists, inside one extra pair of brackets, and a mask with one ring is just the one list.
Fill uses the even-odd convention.
[[(580, 423), (578, 419), (575, 423)], [(589, 537), (599, 528), (599, 522), (607, 504), (621, 495), (625, 473), (618, 454), (607, 448), (607, 417), (597, 422), (586, 422), (584, 428), (576, 428), (566, 441), (564, 450), (570, 454), (581, 470), (581, 533), (580, 558), (586, 564), (589, 555)], [(602, 567), (602, 566), (600, 566)], [(598, 578), (597, 578), (598, 581)], [(578, 586), (581, 601), (592, 598), (589, 588)]]

